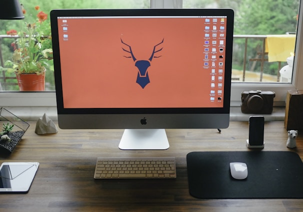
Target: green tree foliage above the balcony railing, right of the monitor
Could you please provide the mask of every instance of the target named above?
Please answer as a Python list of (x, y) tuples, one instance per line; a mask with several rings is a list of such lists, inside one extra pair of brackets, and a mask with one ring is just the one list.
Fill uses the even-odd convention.
[(284, 34), (295, 31), (299, 0), (242, 0), (235, 34)]

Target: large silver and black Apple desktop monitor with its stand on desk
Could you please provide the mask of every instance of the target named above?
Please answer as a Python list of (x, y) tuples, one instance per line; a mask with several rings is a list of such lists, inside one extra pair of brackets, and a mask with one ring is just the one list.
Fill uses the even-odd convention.
[(58, 9), (50, 20), (60, 128), (121, 128), (121, 149), (166, 149), (165, 128), (228, 127), (231, 9)]

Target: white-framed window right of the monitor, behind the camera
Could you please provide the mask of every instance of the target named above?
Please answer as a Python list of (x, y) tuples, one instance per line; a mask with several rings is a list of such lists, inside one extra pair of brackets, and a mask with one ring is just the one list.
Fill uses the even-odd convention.
[[(280, 73), (285, 65), (288, 68), (286, 58), (293, 58), (291, 53), (294, 53), (297, 20), (301, 21), (301, 15), (297, 15), (299, 3), (300, 0), (182, 0), (183, 7), (231, 7), (234, 9), (231, 106), (240, 105), (242, 90), (257, 89), (275, 91), (274, 105), (284, 105), (287, 90), (299, 89), (299, 86), (302, 86), (298, 81), (303, 73), (300, 73), (297, 68), (300, 61), (298, 55), (301, 55), (300, 24), (297, 28), (295, 52), (297, 56), (294, 58), (292, 77), (292, 68), (290, 68), (290, 75), (285, 76), (282, 75), (284, 72)], [(291, 37), (292, 46), (289, 46), (289, 52), (282, 59), (269, 58), (272, 51), (268, 54), (264, 53), (269, 47), (269, 44), (266, 46), (270, 40), (268, 34), (278, 34), (277, 36), (283, 38)], [(278, 41), (278, 45), (280, 42)], [(249, 75), (253, 76), (249, 78)]]

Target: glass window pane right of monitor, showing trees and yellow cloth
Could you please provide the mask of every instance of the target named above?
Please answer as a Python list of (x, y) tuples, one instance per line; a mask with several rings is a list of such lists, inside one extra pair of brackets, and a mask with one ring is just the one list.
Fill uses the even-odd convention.
[(233, 82), (291, 83), (300, 0), (183, 0), (183, 8), (232, 8)]

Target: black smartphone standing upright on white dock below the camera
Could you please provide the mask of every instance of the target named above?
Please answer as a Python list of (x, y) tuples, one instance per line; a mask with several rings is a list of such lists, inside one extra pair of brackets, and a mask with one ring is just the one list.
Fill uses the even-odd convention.
[(264, 144), (264, 117), (250, 116), (249, 117), (249, 145)]

